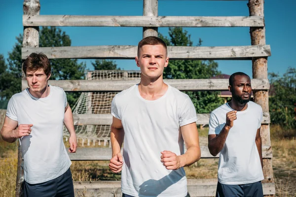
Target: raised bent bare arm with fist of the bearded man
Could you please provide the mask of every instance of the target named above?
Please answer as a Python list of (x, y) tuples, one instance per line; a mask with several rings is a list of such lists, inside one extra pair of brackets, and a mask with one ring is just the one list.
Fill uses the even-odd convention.
[(231, 127), (233, 127), (233, 121), (236, 120), (236, 111), (230, 111), (226, 114), (226, 123), (222, 131), (217, 134), (209, 134), (208, 136), (208, 148), (211, 155), (216, 156), (221, 152), (224, 147), (227, 135)]

